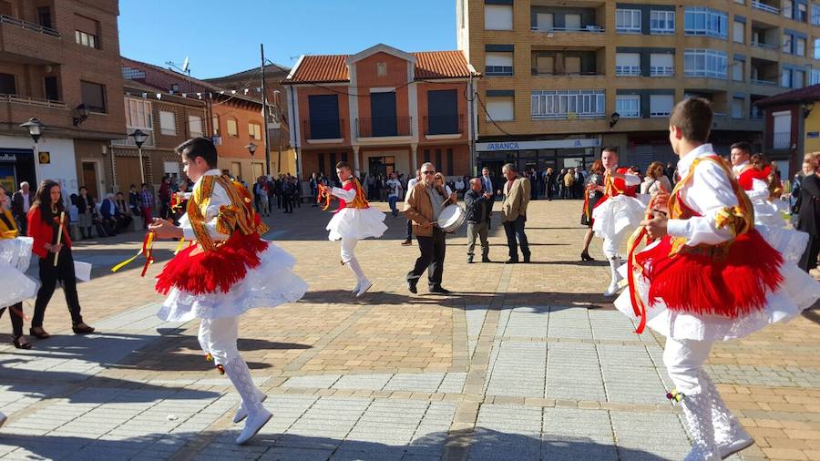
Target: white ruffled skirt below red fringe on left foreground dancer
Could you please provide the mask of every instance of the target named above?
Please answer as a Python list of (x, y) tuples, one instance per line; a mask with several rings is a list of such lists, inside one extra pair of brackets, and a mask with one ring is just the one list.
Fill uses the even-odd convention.
[(259, 256), (261, 264), (248, 270), (229, 292), (193, 294), (171, 289), (157, 316), (166, 322), (236, 317), (254, 308), (272, 308), (301, 299), (307, 283), (292, 272), (296, 260), (291, 254), (269, 242)]

